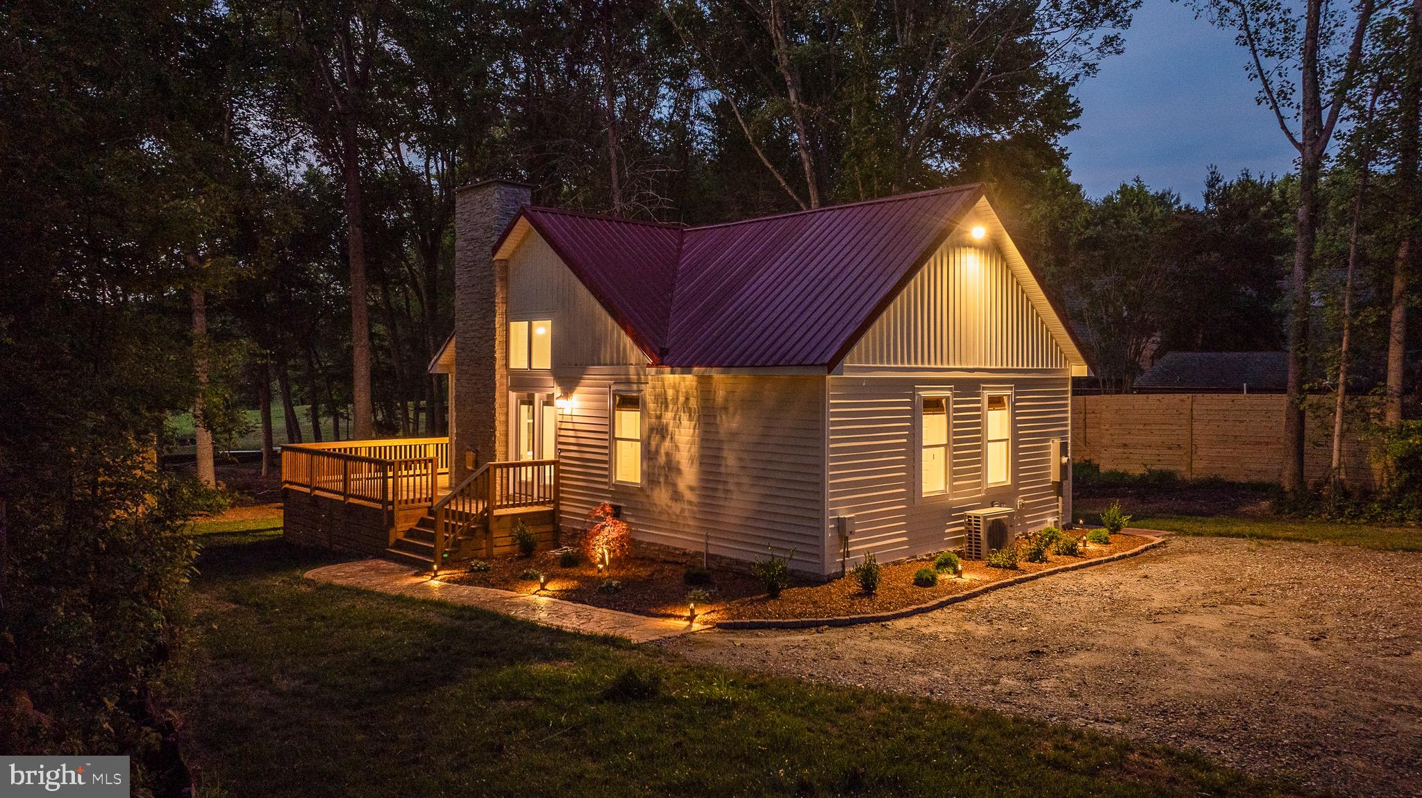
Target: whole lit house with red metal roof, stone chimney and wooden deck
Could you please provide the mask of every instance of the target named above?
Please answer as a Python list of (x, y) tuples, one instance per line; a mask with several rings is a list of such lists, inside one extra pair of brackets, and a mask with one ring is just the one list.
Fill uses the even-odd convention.
[(1088, 373), (978, 185), (685, 227), (498, 180), (431, 371), (449, 440), (286, 447), (287, 534), (444, 564), (606, 501), (644, 551), (838, 575), (1069, 518)]

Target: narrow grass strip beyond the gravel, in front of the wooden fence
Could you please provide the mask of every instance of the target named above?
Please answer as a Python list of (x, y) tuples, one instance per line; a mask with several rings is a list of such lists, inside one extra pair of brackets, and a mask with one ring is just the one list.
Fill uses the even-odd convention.
[(1422, 551), (1422, 530), (1416, 527), (1227, 515), (1143, 515), (1132, 518), (1130, 525), (1186, 535), (1331, 542), (1384, 551)]

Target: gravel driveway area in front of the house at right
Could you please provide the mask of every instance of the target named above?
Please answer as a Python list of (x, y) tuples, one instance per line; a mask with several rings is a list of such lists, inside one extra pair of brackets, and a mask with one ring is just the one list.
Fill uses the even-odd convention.
[(1314, 789), (1422, 795), (1419, 589), (1419, 554), (1172, 537), (890, 623), (663, 645), (1192, 748)]

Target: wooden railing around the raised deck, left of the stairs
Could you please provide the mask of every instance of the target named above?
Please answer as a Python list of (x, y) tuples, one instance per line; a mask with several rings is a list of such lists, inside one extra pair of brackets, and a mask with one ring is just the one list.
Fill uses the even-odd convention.
[(395, 511), (429, 507), (449, 473), (449, 439), (401, 437), (290, 443), (282, 447), (282, 487)]

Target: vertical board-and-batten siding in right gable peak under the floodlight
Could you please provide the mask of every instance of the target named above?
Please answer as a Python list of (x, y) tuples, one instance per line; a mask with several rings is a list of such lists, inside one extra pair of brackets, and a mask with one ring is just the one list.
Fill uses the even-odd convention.
[(1003, 254), (960, 241), (939, 247), (845, 365), (1068, 368)]

